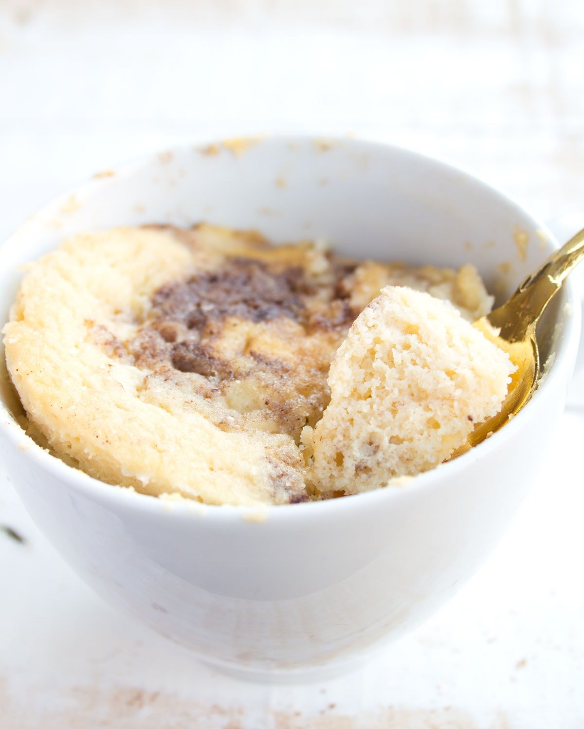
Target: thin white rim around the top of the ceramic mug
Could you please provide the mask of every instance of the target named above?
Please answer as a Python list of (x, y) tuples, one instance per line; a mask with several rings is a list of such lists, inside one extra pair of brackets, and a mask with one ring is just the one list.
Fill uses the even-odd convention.
[[(527, 210), (521, 203), (518, 203), (515, 198), (511, 195), (507, 195), (505, 192), (499, 189), (499, 187), (486, 182), (480, 176), (468, 171), (466, 168), (456, 164), (454, 165), (443, 157), (437, 157), (435, 155), (425, 155), (424, 153), (418, 152), (416, 149), (410, 149), (402, 145), (386, 144), (379, 141), (370, 141), (367, 139), (356, 139), (352, 137), (343, 136), (326, 136), (323, 137), (311, 134), (276, 134), (270, 136), (263, 136), (258, 139), (257, 136), (246, 136), (240, 138), (243, 141), (249, 140), (255, 143), (276, 142), (282, 145), (291, 144), (315, 144), (322, 142), (326, 139), (327, 142), (335, 146), (346, 145), (350, 147), (360, 147), (367, 149), (371, 152), (381, 152), (381, 154), (393, 154), (402, 155), (404, 157), (416, 158), (421, 163), (432, 165), (435, 168), (448, 169), (451, 173), (459, 174), (464, 178), (464, 181), (474, 185), (483, 192), (488, 193), (495, 198), (499, 198), (505, 203), (511, 203), (518, 211), (521, 211), (523, 217), (528, 217), (532, 225), (545, 234), (545, 252), (548, 254), (553, 249), (557, 249), (558, 242), (553, 233), (550, 232), (548, 227), (542, 223), (539, 219)], [(165, 150), (164, 152), (153, 152), (149, 155), (141, 155), (140, 157), (128, 160), (120, 165), (115, 165), (112, 169), (115, 176), (131, 176), (132, 174), (139, 173), (141, 169), (147, 168), (152, 165), (155, 160), (160, 157), (160, 154), (165, 152), (171, 152), (171, 154), (179, 155), (189, 149), (199, 149), (202, 151), (206, 147), (211, 145), (222, 144), (221, 141), (213, 140), (206, 143), (196, 144), (194, 147), (192, 144), (182, 144), (177, 147)], [(50, 202), (46, 203), (38, 211), (31, 214), (17, 229), (9, 235), (9, 237), (0, 244), (0, 267), (1, 260), (7, 249), (17, 243), (17, 238), (21, 233), (25, 232), (28, 226), (34, 225), (36, 217), (42, 217), (42, 214), (58, 208), (68, 200), (71, 195), (78, 195), (81, 192), (91, 192), (92, 189), (97, 189), (104, 184), (104, 178), (99, 174), (94, 175), (90, 179), (86, 179), (81, 184), (77, 184), (74, 187), (69, 188), (65, 192), (58, 195), (56, 198), (52, 198)], [(567, 292), (567, 305), (570, 307), (569, 316), (567, 319), (566, 326), (564, 327), (564, 341), (554, 350), (557, 355), (553, 363), (550, 366), (550, 373), (557, 373), (553, 379), (560, 377), (562, 374), (566, 375), (566, 379), (569, 378), (569, 363), (575, 356), (577, 347), (579, 344), (580, 334), (580, 300), (576, 295), (575, 286), (572, 281), (564, 283), (562, 288)], [(4, 321), (1, 322), (4, 325)], [(567, 372), (564, 372), (568, 370)], [(221, 523), (227, 521), (247, 521), (248, 523), (262, 523), (266, 519), (273, 521), (274, 518), (289, 519), (289, 518), (307, 518), (313, 515), (314, 518), (322, 518), (325, 514), (335, 514), (338, 510), (349, 509), (354, 510), (359, 504), (363, 508), (369, 504), (371, 507), (384, 501), (385, 499), (403, 499), (410, 497), (416, 497), (420, 491), (424, 491), (427, 488), (438, 488), (439, 484), (443, 480), (448, 478), (456, 477), (461, 469), (470, 467), (473, 461), (488, 459), (494, 450), (497, 450), (501, 441), (500, 432), (506, 432), (509, 437), (513, 437), (513, 434), (517, 432), (517, 429), (521, 429), (525, 419), (532, 414), (532, 402), (540, 402), (543, 395), (550, 389), (549, 378), (543, 378), (540, 385), (537, 387), (537, 391), (534, 393), (532, 400), (528, 402), (525, 408), (515, 416), (511, 421), (505, 424), (502, 431), (498, 431), (493, 434), (493, 437), (484, 440), (482, 443), (471, 448), (467, 453), (463, 453), (452, 461), (447, 461), (439, 466), (430, 469), (427, 472), (418, 474), (412, 477), (411, 481), (404, 486), (385, 486), (375, 488), (371, 491), (365, 491), (360, 494), (351, 494), (349, 496), (343, 496), (339, 499), (323, 499), (321, 501), (314, 502), (302, 502), (299, 504), (255, 504), (250, 506), (236, 506), (233, 504), (205, 504), (195, 501), (194, 499), (164, 499), (158, 496), (151, 496), (149, 494), (141, 494), (135, 491), (133, 488), (128, 486), (115, 486), (105, 481), (94, 478), (81, 469), (76, 469), (69, 466), (64, 461), (58, 458), (58, 456), (52, 456), (49, 451), (45, 451), (40, 445), (38, 445), (31, 437), (29, 437), (22, 427), (17, 423), (15, 418), (12, 416), (4, 397), (0, 398), (0, 437), (6, 437), (12, 445), (17, 448), (23, 458), (34, 459), (36, 465), (41, 469), (47, 469), (54, 477), (60, 480), (66, 481), (69, 486), (79, 489), (85, 496), (90, 496), (93, 499), (99, 499), (105, 502), (109, 502), (112, 506), (117, 507), (128, 507), (129, 509), (141, 509), (146, 510), (152, 515), (166, 515), (169, 518), (200, 518), (204, 517), (206, 521), (218, 520)], [(530, 407), (531, 406), (531, 407)], [(357, 499), (357, 501), (356, 501)], [(290, 508), (293, 507), (293, 508)], [(324, 511), (323, 511), (324, 510)]]

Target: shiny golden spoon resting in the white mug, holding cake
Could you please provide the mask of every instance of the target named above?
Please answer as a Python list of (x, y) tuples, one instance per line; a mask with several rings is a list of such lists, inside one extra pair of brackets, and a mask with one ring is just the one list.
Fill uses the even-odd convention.
[(507, 397), (493, 418), (478, 424), (451, 456), (466, 453), (482, 443), (513, 418), (532, 397), (540, 376), (540, 353), (537, 349), (535, 327), (545, 307), (557, 294), (564, 278), (584, 258), (584, 230), (565, 246), (550, 255), (534, 273), (519, 285), (513, 296), (487, 316), (477, 319), (473, 326), (509, 354), (517, 370), (511, 375)]

